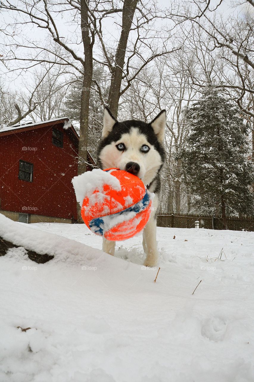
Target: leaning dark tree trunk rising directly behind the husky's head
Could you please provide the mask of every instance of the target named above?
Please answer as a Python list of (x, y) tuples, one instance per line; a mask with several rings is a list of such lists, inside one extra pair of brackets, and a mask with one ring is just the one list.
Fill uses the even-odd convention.
[(108, 97), (109, 109), (116, 118), (118, 113), (118, 103), (120, 98), (120, 90), (123, 75), (122, 69), (124, 67), (126, 47), (137, 3), (138, 0), (124, 0), (122, 10), (122, 31), (116, 50), (115, 65), (111, 74), (111, 82)]

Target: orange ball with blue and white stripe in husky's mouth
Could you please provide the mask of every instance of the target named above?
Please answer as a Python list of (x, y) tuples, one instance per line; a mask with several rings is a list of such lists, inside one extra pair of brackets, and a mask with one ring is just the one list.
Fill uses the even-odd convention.
[(82, 219), (90, 230), (107, 240), (129, 239), (140, 232), (150, 218), (150, 193), (140, 178), (129, 172), (118, 168), (104, 171), (117, 178), (119, 187), (104, 183), (89, 197), (85, 196)]

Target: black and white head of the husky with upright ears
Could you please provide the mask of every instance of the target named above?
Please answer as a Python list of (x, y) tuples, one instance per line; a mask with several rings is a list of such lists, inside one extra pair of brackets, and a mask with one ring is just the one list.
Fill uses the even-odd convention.
[(104, 108), (103, 129), (98, 147), (101, 168), (117, 167), (151, 183), (164, 162), (163, 141), (166, 110), (150, 123), (137, 120), (118, 122)]

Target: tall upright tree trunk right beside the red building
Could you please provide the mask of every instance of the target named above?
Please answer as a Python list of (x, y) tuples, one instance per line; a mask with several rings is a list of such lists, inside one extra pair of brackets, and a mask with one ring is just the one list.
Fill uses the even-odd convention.
[[(88, 28), (88, 8), (85, 0), (80, 1), (81, 33), (84, 46), (84, 78), (80, 97), (80, 133), (79, 133), (79, 159), (78, 175), (87, 170), (87, 144), (88, 144), (88, 116), (89, 98), (93, 76), (93, 39), (89, 36)], [(77, 218), (79, 223), (83, 223), (80, 215), (80, 206), (77, 203)]]

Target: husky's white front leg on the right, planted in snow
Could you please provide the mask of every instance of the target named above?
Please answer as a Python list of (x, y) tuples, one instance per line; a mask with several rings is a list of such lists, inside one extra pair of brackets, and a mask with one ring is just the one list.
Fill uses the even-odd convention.
[(156, 216), (152, 214), (143, 231), (143, 247), (146, 253), (144, 265), (155, 267), (158, 262), (158, 249), (156, 243)]

